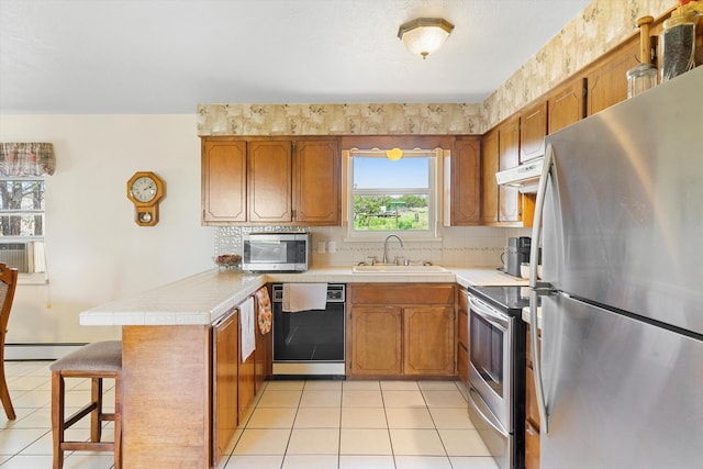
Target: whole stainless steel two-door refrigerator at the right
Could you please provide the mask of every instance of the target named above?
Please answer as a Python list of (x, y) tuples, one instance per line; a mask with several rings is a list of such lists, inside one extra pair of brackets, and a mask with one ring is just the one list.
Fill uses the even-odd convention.
[(701, 467), (703, 67), (546, 143), (542, 469)]

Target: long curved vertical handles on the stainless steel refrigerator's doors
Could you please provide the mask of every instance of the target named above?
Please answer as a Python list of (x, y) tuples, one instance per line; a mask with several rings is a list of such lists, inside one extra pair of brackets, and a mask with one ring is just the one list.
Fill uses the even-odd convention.
[[(551, 145), (547, 146), (547, 150), (545, 153), (545, 163), (542, 170), (542, 177), (539, 178), (539, 187), (537, 189), (537, 201), (535, 202), (535, 217), (533, 221), (532, 228), (532, 246), (529, 253), (529, 338), (532, 343), (532, 356), (533, 356), (533, 367), (534, 367), (534, 381), (535, 381), (535, 393), (537, 394), (537, 409), (539, 410), (539, 418), (542, 421), (540, 429), (545, 434), (549, 434), (549, 416), (547, 412), (547, 404), (545, 400), (545, 391), (542, 379), (542, 357), (539, 356), (539, 347), (538, 347), (538, 335), (537, 331), (539, 328), (537, 317), (537, 298), (539, 293), (545, 294), (549, 283), (546, 282), (537, 282), (537, 263), (538, 263), (538, 252), (542, 245), (542, 221), (543, 221), (543, 211), (545, 206), (545, 197), (547, 192), (547, 183), (551, 178), (553, 183), (556, 185), (556, 171), (554, 168), (554, 148)], [(556, 194), (555, 194), (556, 197)], [(538, 291), (542, 290), (542, 291)]]

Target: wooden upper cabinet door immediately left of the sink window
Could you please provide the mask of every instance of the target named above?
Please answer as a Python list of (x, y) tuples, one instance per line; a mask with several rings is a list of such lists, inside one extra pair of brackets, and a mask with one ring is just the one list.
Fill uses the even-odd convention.
[(294, 220), (339, 224), (339, 147), (336, 139), (295, 143)]

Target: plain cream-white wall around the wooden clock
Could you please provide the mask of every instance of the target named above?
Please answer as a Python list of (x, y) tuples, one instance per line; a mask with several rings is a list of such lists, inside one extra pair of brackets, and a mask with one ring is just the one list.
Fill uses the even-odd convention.
[[(57, 158), (46, 180), (49, 283), (18, 286), (8, 344), (119, 338), (119, 327), (81, 326), (78, 314), (213, 267), (194, 114), (0, 115), (0, 141), (51, 142)], [(135, 171), (166, 182), (156, 226), (134, 223)]]

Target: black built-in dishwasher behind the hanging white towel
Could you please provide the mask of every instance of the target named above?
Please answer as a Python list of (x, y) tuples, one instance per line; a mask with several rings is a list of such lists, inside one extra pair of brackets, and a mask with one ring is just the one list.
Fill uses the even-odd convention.
[(345, 375), (346, 284), (328, 283), (324, 310), (283, 311), (283, 284), (271, 288), (274, 376)]

